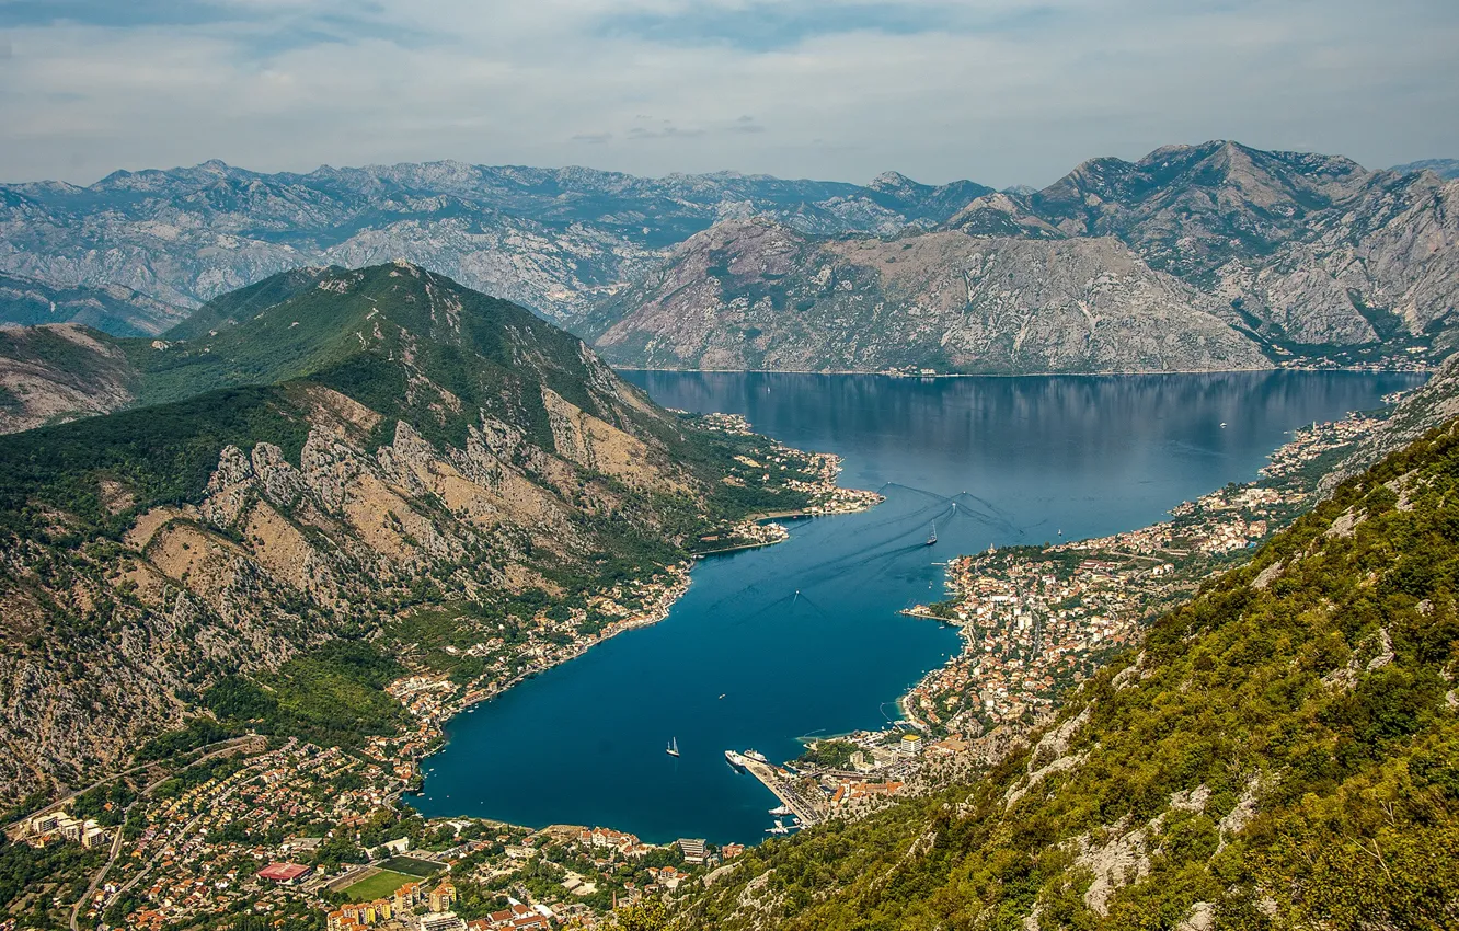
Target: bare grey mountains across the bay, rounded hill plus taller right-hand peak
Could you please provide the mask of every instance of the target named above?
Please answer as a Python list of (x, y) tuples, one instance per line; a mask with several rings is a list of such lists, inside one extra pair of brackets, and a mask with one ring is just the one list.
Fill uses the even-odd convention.
[[(907, 190), (893, 175), (875, 184)], [(954, 248), (943, 231), (973, 242)], [(801, 231), (786, 231), (779, 239), (791, 245), (773, 247), (763, 274), (750, 274), (753, 260), (727, 276), (718, 273), (722, 263), (696, 258), (706, 248), (756, 251), (727, 247), (746, 233), (727, 223), (687, 241), (641, 285), (603, 298), (575, 325), (617, 362), (673, 366), (759, 359), (769, 368), (1043, 371), (1036, 358), (999, 344), (1040, 347), (1033, 355), (1042, 353), (1052, 371), (1242, 368), (1294, 356), (1406, 365), (1459, 346), (1459, 182), (1431, 172), (1371, 172), (1342, 158), (1230, 142), (1167, 146), (1138, 162), (1084, 162), (1042, 191), (980, 194), (943, 231), (909, 231), (855, 250), (830, 239), (810, 248)], [(1115, 241), (1128, 248), (1112, 248)], [(827, 257), (852, 251), (864, 260), (861, 269), (877, 267), (872, 277), (887, 285), (906, 282), (905, 267), (896, 266), (900, 251), (937, 255), (928, 279), (935, 295), (883, 289), (862, 274), (837, 277), (840, 290), (813, 302), (817, 287), (824, 290), (820, 282), (836, 273)], [(1008, 287), (986, 280), (991, 255)], [(1064, 276), (1056, 266), (1071, 261)], [(1087, 277), (1072, 280), (1075, 267)], [(1061, 276), (1058, 287), (1040, 285)], [(1198, 333), (1188, 333), (1169, 304), (1150, 317), (1144, 296), (1154, 285), (1102, 285), (1166, 276), (1188, 290), (1179, 298), (1169, 285), (1156, 290), (1195, 311), (1186, 322)], [(1102, 290), (1097, 301), (1093, 290)], [(763, 304), (770, 292), (794, 299)], [(818, 309), (807, 315), (813, 304)], [(995, 305), (1018, 309), (994, 314)], [(1085, 312), (1096, 306), (1099, 322)], [(1211, 317), (1224, 328), (1211, 328)], [(715, 328), (715, 321), (724, 325)], [(1164, 344), (1156, 339), (1161, 328)], [(969, 331), (979, 336), (969, 341)], [(1129, 341), (1131, 333), (1141, 336)], [(1224, 347), (1212, 352), (1201, 340), (1215, 334)], [(778, 352), (782, 341), (792, 352)], [(1236, 344), (1246, 352), (1231, 355)], [(1269, 362), (1249, 352), (1255, 346)]]

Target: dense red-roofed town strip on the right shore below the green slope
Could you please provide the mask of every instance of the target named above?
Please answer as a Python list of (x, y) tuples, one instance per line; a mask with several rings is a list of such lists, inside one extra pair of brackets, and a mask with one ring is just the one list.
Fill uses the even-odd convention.
[(902, 699), (905, 718), (953, 740), (1032, 727), (1064, 690), (1132, 645), (1141, 625), (1285, 525), (1313, 492), (1310, 463), (1380, 423), (1350, 414), (1294, 430), (1261, 480), (1185, 502), (1169, 521), (950, 560), (950, 597), (906, 613), (957, 626), (963, 648)]

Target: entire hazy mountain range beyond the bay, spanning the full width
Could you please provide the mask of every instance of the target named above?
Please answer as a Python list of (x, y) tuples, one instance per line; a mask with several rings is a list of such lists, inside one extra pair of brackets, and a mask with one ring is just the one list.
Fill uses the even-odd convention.
[[(896, 172), (854, 185), (457, 162), (268, 175), (207, 162), (89, 187), (0, 185), (0, 270), (191, 309), (293, 267), (404, 257), (601, 340), (630, 366), (1408, 365), (1453, 347), (1450, 169), (1369, 171), (1230, 142), (1091, 159), (1043, 190), (1007, 191)], [(767, 223), (782, 232), (765, 235)], [(1058, 271), (1074, 255), (1078, 280)], [(1013, 286), (994, 286), (991, 269)], [(848, 333), (862, 346), (842, 349)]]

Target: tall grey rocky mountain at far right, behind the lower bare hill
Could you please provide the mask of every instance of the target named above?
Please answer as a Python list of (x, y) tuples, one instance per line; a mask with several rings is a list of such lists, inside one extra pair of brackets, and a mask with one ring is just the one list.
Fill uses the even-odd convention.
[(1112, 235), (1290, 350), (1443, 356), (1459, 282), (1459, 185), (1237, 143), (1093, 159), (1042, 191), (973, 201), (973, 235)]

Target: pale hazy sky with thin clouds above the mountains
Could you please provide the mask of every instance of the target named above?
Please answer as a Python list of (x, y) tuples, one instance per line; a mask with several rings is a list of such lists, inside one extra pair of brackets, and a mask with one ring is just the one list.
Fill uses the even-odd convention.
[(463, 159), (1043, 185), (1459, 158), (1456, 0), (0, 0), (0, 178)]

